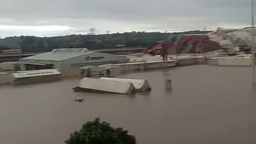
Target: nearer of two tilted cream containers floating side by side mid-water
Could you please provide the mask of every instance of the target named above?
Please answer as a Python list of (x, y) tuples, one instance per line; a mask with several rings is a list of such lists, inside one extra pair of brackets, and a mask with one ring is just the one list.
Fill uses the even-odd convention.
[(109, 92), (120, 94), (132, 94), (135, 87), (129, 82), (108, 81), (105, 79), (96, 79), (84, 77), (81, 83), (73, 88), (74, 91), (89, 91), (89, 92)]

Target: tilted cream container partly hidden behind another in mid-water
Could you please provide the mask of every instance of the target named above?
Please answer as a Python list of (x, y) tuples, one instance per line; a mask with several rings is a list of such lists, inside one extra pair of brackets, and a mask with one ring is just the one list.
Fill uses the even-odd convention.
[(137, 92), (145, 92), (145, 91), (151, 90), (151, 87), (146, 79), (110, 78), (110, 77), (101, 77), (100, 79), (105, 79), (108, 81), (132, 83)]

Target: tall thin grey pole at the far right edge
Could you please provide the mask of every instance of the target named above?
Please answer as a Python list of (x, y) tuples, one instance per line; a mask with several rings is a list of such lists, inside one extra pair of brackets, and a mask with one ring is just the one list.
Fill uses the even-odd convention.
[(251, 47), (251, 53), (252, 53), (252, 83), (255, 84), (255, 57), (254, 57), (254, 0), (251, 0), (252, 3), (252, 30), (251, 30), (251, 36), (252, 36), (252, 47)]

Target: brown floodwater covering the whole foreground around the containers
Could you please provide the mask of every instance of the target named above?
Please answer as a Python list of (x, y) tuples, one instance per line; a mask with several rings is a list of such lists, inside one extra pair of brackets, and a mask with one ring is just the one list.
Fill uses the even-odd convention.
[(77, 78), (1, 86), (0, 143), (62, 144), (96, 117), (129, 130), (139, 144), (252, 142), (250, 67), (189, 66), (119, 77), (148, 79), (153, 90), (134, 96), (78, 93), (71, 89)]

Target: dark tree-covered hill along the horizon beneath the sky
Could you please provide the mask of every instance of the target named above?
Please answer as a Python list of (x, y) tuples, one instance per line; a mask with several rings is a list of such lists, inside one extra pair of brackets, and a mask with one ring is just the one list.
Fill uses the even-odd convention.
[(103, 49), (125, 44), (126, 47), (153, 47), (168, 35), (205, 34), (210, 31), (184, 31), (181, 33), (116, 33), (105, 35), (68, 35), (57, 37), (20, 36), (0, 39), (0, 50), (21, 49), (22, 52), (51, 51), (56, 48)]

